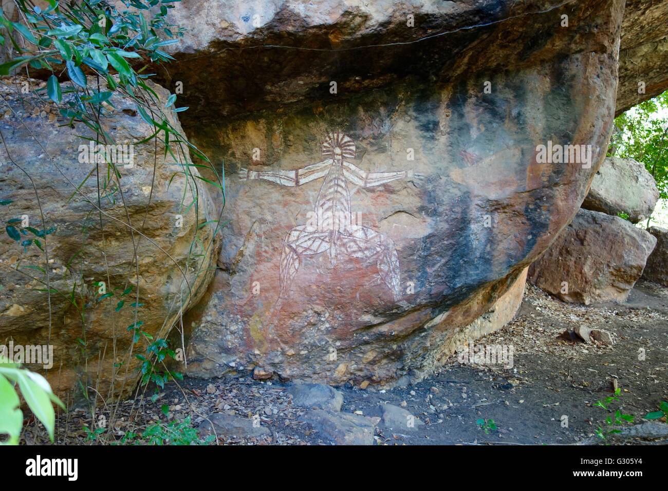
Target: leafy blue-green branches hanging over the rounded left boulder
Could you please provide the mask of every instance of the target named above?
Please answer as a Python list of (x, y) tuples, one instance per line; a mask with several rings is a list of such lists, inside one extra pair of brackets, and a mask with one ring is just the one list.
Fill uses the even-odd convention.
[[(173, 59), (164, 51), (164, 47), (178, 43), (183, 35), (181, 27), (172, 25), (168, 21), (168, 12), (174, 8), (174, 0), (48, 0), (46, 7), (35, 5), (31, 0), (15, 0), (19, 21), (15, 22), (5, 16), (0, 9), (0, 45), (11, 43), (16, 55), (6, 63), (0, 65), (0, 75), (25, 71), (25, 75), (35, 76), (47, 80), (42, 89), (33, 88), (34, 95), (42, 100), (50, 100), (59, 108), (59, 114), (67, 118), (72, 128), (79, 129), (81, 125), (92, 132), (88, 136), (81, 135), (83, 140), (95, 144), (116, 144), (106, 125), (102, 122), (104, 118), (116, 110), (117, 98), (130, 100), (136, 107), (137, 114), (152, 127), (152, 135), (138, 142), (122, 142), (124, 144), (146, 144), (152, 140), (160, 142), (164, 146), (164, 158), (170, 156), (172, 164), (178, 166), (174, 175), (180, 173), (186, 176), (186, 185), (191, 190), (192, 201), (186, 201), (184, 191), (180, 208), (182, 213), (194, 210), (196, 221), (200, 220), (198, 202), (198, 180), (204, 180), (222, 190), (222, 180), (218, 177), (216, 170), (208, 164), (208, 158), (202, 154), (188, 139), (182, 135), (171, 121), (176, 116), (168, 116), (167, 113), (179, 113), (188, 108), (176, 107), (176, 94), (169, 94), (166, 101), (161, 102), (158, 94), (147, 84), (151, 76), (148, 71), (150, 67), (167, 63)], [(43, 5), (43, 4), (42, 4)], [(125, 7), (125, 8), (124, 8)], [(22, 73), (23, 74), (23, 73)], [(69, 81), (69, 82), (67, 82)], [(67, 83), (65, 83), (67, 82)], [(33, 97), (33, 94), (25, 97)], [(108, 126), (108, 125), (107, 125)], [(97, 147), (96, 147), (97, 148)], [(186, 158), (189, 152), (194, 158), (199, 158), (206, 164), (191, 164)], [(10, 156), (11, 158), (11, 156)], [(92, 162), (92, 170), (75, 189), (75, 194), (91, 205), (91, 214), (98, 212), (100, 215), (100, 227), (104, 227), (102, 216), (108, 216), (102, 209), (103, 200), (116, 204), (117, 196), (125, 206), (120, 186), (124, 168), (117, 165), (112, 159), (104, 155), (96, 155)], [(55, 164), (54, 164), (55, 165)], [(218, 182), (202, 178), (199, 174), (192, 174), (193, 167), (208, 168), (216, 176)], [(83, 184), (89, 178), (97, 178), (98, 196), (90, 198), (91, 195), (81, 192)], [(174, 176), (172, 176), (174, 179)], [(170, 180), (171, 182), (171, 180)], [(156, 183), (157, 184), (157, 183)], [(153, 184), (152, 184), (153, 185)], [(37, 193), (37, 188), (35, 188)], [(37, 196), (39, 200), (39, 196)], [(10, 200), (1, 200), (1, 205), (10, 204)], [(148, 208), (148, 207), (147, 207)], [(42, 218), (42, 220), (44, 220)], [(129, 218), (128, 218), (129, 220)], [(9, 218), (7, 221), (0, 220), (5, 226), (5, 233), (23, 248), (26, 252), (29, 247), (37, 247), (45, 256), (44, 265), (49, 263), (47, 247), (47, 236), (57, 232), (43, 224), (42, 229), (20, 227), (18, 218)], [(217, 226), (218, 220), (207, 220), (200, 224), (198, 230), (204, 226)], [(144, 236), (140, 230), (126, 224), (132, 241), (135, 243), (135, 233)], [(87, 225), (88, 226), (88, 225)], [(90, 227), (89, 227), (90, 228)], [(148, 239), (150, 240), (150, 239)], [(155, 242), (154, 242), (155, 244)], [(157, 244), (156, 244), (157, 247)], [(198, 250), (200, 249), (200, 250)], [(135, 248), (136, 251), (136, 248)], [(77, 255), (81, 255), (77, 259)], [(81, 251), (67, 263), (68, 273), (71, 273), (71, 262), (85, 261)], [(197, 236), (192, 237), (188, 259), (184, 265), (177, 265), (182, 275), (184, 270), (195, 271), (197, 275), (203, 273), (202, 264), (196, 264), (199, 258), (206, 257), (204, 245)], [(138, 257), (134, 258), (136, 268), (136, 284), (139, 282)], [(106, 293), (97, 295), (94, 289), (83, 284), (83, 280), (75, 282), (71, 291), (59, 291), (51, 285), (50, 271), (48, 267), (40, 265), (29, 265), (28, 268), (41, 273), (41, 277), (33, 280), (41, 283), (45, 288), (42, 290), (47, 295), (59, 295), (79, 313), (81, 317), (82, 334), (78, 340), (82, 355), (87, 357), (86, 350), (86, 310), (97, 307), (104, 301), (114, 301), (119, 312), (126, 305), (126, 295), (134, 295), (134, 302), (128, 305), (132, 307), (134, 321), (128, 326), (130, 333), (130, 348), (126, 361), (116, 363), (120, 368), (127, 363), (133, 355), (133, 349), (140, 340), (146, 342), (148, 348), (146, 355), (140, 355), (142, 365), (140, 374), (143, 385), (153, 382), (157, 387), (164, 387), (164, 383), (170, 379), (179, 378), (180, 374), (172, 373), (165, 369), (156, 369), (156, 363), (164, 366), (166, 356), (173, 357), (173, 351), (169, 350), (164, 339), (154, 340), (149, 333), (142, 329), (143, 322), (139, 319), (140, 307), (139, 289), (133, 285), (132, 278), (126, 279), (122, 287), (114, 287)], [(18, 267), (17, 267), (18, 269)], [(25, 275), (25, 273), (23, 273)], [(187, 280), (186, 280), (186, 283)], [(94, 284), (97, 286), (97, 284)], [(188, 290), (190, 289), (188, 285)], [(122, 293), (121, 293), (122, 292)], [(180, 300), (180, 305), (188, 302), (190, 292)], [(50, 300), (49, 300), (50, 305)], [(83, 394), (88, 399), (86, 383), (81, 383)], [(94, 412), (94, 411), (92, 411)], [(97, 438), (98, 434), (89, 430)], [(90, 437), (93, 439), (94, 437)]]

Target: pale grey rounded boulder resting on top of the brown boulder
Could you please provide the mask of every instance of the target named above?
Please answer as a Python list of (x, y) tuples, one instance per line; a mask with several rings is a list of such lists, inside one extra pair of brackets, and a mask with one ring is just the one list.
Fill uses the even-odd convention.
[(582, 208), (609, 215), (625, 212), (637, 223), (654, 211), (659, 189), (645, 166), (633, 158), (608, 157), (591, 182)]

